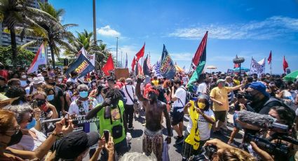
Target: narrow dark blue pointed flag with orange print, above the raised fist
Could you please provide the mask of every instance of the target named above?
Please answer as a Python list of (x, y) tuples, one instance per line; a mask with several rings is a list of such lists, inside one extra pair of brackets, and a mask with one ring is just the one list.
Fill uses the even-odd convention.
[(163, 53), (161, 55), (159, 71), (161, 72), (161, 76), (168, 79), (174, 78), (176, 73), (174, 62), (172, 62), (168, 50), (165, 49), (165, 44), (163, 44)]

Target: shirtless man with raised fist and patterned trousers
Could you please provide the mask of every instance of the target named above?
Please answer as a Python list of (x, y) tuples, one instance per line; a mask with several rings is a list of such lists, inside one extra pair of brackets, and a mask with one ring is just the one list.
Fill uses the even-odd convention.
[(171, 142), (172, 130), (170, 127), (170, 116), (167, 111), (166, 104), (159, 101), (158, 90), (156, 87), (150, 87), (148, 99), (144, 98), (141, 94), (140, 85), (144, 80), (144, 76), (137, 76), (137, 85), (135, 92), (139, 101), (143, 103), (146, 109), (146, 125), (143, 136), (143, 152), (146, 155), (153, 153), (156, 155), (157, 160), (162, 160), (163, 155), (163, 133), (161, 131), (161, 115), (165, 116), (166, 125), (168, 129), (168, 137), (165, 139), (168, 144)]

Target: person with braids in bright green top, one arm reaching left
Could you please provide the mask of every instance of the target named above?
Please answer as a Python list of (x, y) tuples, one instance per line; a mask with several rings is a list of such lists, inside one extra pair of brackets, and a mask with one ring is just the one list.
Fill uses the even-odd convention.
[[(104, 130), (109, 130), (114, 138), (114, 149), (118, 156), (122, 156), (128, 151), (126, 142), (126, 115), (124, 114), (124, 104), (120, 100), (122, 94), (117, 89), (109, 89), (104, 102), (98, 104), (95, 109), (87, 113), (86, 119), (97, 116), (100, 119), (100, 135), (103, 136)], [(103, 150), (102, 160), (107, 160), (107, 151)]]

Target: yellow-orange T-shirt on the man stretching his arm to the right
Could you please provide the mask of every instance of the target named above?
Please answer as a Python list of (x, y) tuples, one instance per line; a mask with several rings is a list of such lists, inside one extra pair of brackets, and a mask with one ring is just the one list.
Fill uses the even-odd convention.
[(219, 106), (216, 102), (213, 102), (213, 111), (227, 111), (229, 109), (228, 92), (231, 92), (231, 87), (215, 87), (210, 92), (210, 97), (222, 102), (222, 106)]

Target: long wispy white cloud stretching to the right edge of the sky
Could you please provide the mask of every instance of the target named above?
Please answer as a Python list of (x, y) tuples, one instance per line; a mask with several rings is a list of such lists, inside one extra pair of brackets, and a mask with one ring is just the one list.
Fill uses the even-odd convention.
[(252, 21), (245, 24), (201, 25), (199, 27), (176, 29), (168, 36), (197, 39), (202, 38), (205, 31), (209, 31), (209, 38), (266, 40), (297, 34), (298, 19), (273, 16), (263, 21)]

